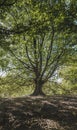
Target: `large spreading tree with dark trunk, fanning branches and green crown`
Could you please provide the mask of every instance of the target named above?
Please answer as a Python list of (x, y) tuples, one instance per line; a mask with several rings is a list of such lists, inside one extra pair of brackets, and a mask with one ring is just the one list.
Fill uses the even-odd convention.
[[(73, 19), (69, 14), (71, 5), (75, 13)], [(10, 38), (6, 38), (4, 43), (9, 43), (8, 49), (16, 59), (9, 64), (11, 68), (20, 68), (19, 65), (25, 68), (25, 74), (35, 84), (33, 95), (44, 95), (42, 86), (54, 77), (58, 67), (65, 63), (65, 56), (76, 44), (74, 5), (71, 2), (67, 5), (64, 1), (23, 0), (12, 8), (9, 17), (6, 15), (8, 19), (5, 17), (6, 28), (11, 27), (7, 30)], [(18, 20), (19, 17), (21, 19)]]

